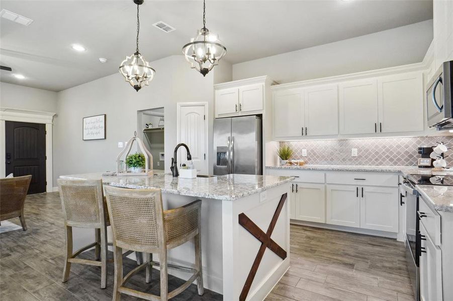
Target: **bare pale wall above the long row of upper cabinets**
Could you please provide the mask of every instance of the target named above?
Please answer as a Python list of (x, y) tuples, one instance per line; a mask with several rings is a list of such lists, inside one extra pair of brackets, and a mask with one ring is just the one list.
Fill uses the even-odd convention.
[(432, 20), (428, 20), (238, 63), (233, 65), (233, 80), (269, 75), (280, 83), (288, 83), (418, 63), (432, 41), (432, 31)]

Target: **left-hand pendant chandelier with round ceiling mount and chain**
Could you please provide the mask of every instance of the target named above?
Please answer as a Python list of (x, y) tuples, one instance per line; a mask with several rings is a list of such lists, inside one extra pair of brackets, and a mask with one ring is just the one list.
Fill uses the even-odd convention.
[(133, 0), (137, 5), (137, 49), (131, 56), (126, 59), (119, 67), (120, 73), (127, 82), (138, 92), (144, 85), (148, 86), (156, 71), (149, 66), (149, 63), (143, 58), (138, 50), (138, 35), (140, 33), (139, 6), (144, 0)]

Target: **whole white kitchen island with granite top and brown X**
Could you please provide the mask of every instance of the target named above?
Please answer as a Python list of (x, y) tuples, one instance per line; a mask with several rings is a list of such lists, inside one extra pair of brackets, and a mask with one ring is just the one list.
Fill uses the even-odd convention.
[[(224, 300), (263, 299), (290, 265), (289, 186), (284, 184), (293, 177), (231, 174), (182, 179), (165, 174), (118, 177), (96, 173), (60, 178), (102, 179), (104, 185), (129, 189), (159, 188), (164, 210), (201, 199), (204, 285), (222, 293)], [(92, 242), (91, 232), (74, 231), (74, 243)], [(168, 262), (193, 265), (193, 246), (170, 250)], [(182, 272), (169, 273), (189, 278)]]

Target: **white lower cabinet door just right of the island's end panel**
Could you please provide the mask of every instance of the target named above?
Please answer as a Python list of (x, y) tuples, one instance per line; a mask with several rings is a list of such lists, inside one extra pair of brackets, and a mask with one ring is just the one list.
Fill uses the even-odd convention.
[(295, 183), (296, 214), (295, 219), (325, 223), (326, 199), (324, 184)]

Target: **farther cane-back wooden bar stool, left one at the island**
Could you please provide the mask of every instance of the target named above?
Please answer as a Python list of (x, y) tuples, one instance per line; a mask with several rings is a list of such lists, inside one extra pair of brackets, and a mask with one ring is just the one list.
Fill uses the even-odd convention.
[[(58, 179), (61, 205), (66, 233), (66, 260), (63, 269), (63, 282), (69, 278), (71, 263), (101, 266), (101, 288), (107, 283), (107, 226), (108, 214), (104, 204), (102, 180), (62, 180)], [(72, 252), (72, 227), (94, 228), (96, 241), (75, 253)], [(96, 248), (96, 259), (75, 258), (89, 248)], [(99, 257), (101, 260), (99, 261)]]

